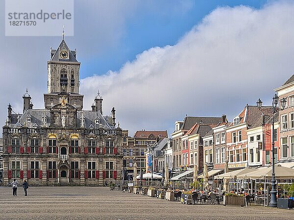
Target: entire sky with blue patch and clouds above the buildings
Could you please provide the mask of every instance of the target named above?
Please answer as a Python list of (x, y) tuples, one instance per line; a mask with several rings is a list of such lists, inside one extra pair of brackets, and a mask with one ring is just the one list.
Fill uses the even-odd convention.
[[(44, 108), (49, 49), (60, 37), (6, 37), (0, 1), (0, 122), (7, 105), (22, 113), (28, 88)], [(167, 130), (188, 116), (237, 116), (294, 70), (294, 2), (287, 0), (75, 0), (80, 94), (90, 110), (97, 91), (103, 114), (120, 127)]]

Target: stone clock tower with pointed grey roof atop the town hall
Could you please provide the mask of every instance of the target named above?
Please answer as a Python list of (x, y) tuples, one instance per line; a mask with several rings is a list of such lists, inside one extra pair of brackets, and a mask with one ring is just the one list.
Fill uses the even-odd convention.
[[(81, 110), (83, 95), (79, 94), (80, 62), (76, 60), (76, 49), (70, 50), (64, 36), (57, 49), (50, 49), (48, 68), (48, 94), (44, 94), (45, 108), (60, 103), (67, 94), (67, 103)], [(63, 96), (61, 96), (61, 93)]]

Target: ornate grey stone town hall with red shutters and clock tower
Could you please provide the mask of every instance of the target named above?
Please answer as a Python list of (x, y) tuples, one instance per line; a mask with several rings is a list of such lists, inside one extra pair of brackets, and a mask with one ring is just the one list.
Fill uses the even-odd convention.
[(102, 186), (121, 179), (122, 129), (115, 109), (102, 115), (98, 93), (91, 111), (83, 109), (79, 94), (80, 63), (64, 35), (57, 49), (50, 49), (48, 93), (44, 109), (34, 109), (26, 90), (23, 114), (8, 105), (3, 126), (4, 184), (14, 178), (30, 185)]

